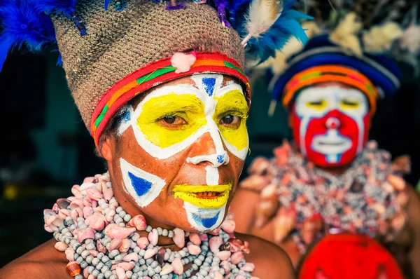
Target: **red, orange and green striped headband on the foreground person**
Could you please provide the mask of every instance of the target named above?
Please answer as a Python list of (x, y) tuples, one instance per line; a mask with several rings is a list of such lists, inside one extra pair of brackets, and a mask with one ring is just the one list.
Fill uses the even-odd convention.
[(240, 65), (221, 53), (197, 53), (197, 60), (188, 72), (176, 73), (171, 58), (148, 64), (136, 72), (126, 76), (109, 88), (102, 96), (92, 114), (90, 128), (94, 142), (98, 145), (99, 137), (113, 114), (133, 97), (158, 86), (160, 83), (179, 79), (193, 74), (218, 73), (234, 76), (246, 86), (246, 100), (251, 104), (251, 87), (248, 78)]

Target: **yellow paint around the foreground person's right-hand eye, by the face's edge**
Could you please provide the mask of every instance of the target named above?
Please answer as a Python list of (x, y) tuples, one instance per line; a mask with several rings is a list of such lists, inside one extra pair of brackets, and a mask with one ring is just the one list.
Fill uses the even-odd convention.
[[(248, 104), (244, 93), (240, 90), (232, 90), (221, 97), (216, 97), (217, 104), (214, 112), (214, 121), (217, 123), (222, 136), (237, 151), (248, 147), (248, 132), (246, 130), (246, 118), (248, 117)], [(241, 118), (239, 127), (222, 125), (221, 119), (227, 115)]]

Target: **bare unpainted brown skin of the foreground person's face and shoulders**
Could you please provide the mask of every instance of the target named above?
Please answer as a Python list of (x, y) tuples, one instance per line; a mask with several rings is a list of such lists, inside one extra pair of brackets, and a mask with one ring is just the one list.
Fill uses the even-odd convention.
[[(228, 81), (232, 81), (232, 79), (225, 76), (223, 82), (227, 83)], [(186, 77), (172, 81), (171, 83), (165, 83), (165, 85), (191, 84), (192, 82), (191, 79)], [(148, 93), (145, 93), (143, 97), (146, 94)], [(134, 107), (143, 100), (143, 97), (139, 97), (138, 100), (134, 101)], [(179, 124), (182, 121), (176, 119), (174, 123)], [(166, 124), (162, 123), (162, 125)], [(186, 158), (197, 153), (214, 153), (214, 144), (211, 144), (211, 139), (206, 134), (198, 138), (187, 149), (165, 160), (157, 160), (144, 151), (134, 138), (132, 129), (127, 129), (121, 137), (108, 135), (102, 141), (99, 151), (109, 167), (114, 195), (125, 212), (131, 216), (144, 215), (147, 223), (153, 227), (160, 226), (164, 229), (174, 229), (174, 225), (176, 225), (181, 229), (192, 229), (186, 216), (182, 213), (182, 202), (180, 199), (174, 198), (172, 189), (176, 184), (205, 184), (204, 168), (210, 163), (207, 161), (202, 161), (197, 164), (186, 163)], [(229, 205), (230, 200), (232, 200), (235, 194), (244, 161), (230, 154), (229, 151), (228, 155), (230, 156), (230, 162), (219, 168), (219, 182), (232, 182), (232, 191), (228, 200)], [(135, 164), (137, 168), (142, 168), (162, 177), (164, 176), (169, 181), (162, 189), (158, 198), (153, 200), (150, 205), (139, 207), (132, 196), (125, 191), (123, 177), (119, 167), (120, 158), (125, 158), (130, 163)], [(145, 231), (139, 233), (141, 236), (147, 236)], [(245, 254), (245, 258), (246, 261), (255, 264), (254, 276), (261, 279), (294, 278), (293, 266), (290, 259), (280, 247), (255, 236), (238, 233), (237, 238), (248, 241), (249, 243), (251, 253)], [(0, 278), (70, 278), (66, 274), (66, 264), (68, 264), (68, 261), (63, 252), (55, 250), (55, 242), (52, 239), (4, 266), (0, 269)], [(179, 250), (171, 238), (165, 238), (163, 236), (160, 236), (158, 245), (171, 250)]]

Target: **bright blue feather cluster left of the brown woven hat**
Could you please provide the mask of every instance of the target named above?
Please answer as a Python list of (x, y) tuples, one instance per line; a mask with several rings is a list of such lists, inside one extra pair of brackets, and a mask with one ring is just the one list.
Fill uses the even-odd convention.
[(0, 2), (0, 70), (8, 52), (21, 48), (41, 50), (45, 44), (55, 42), (51, 19), (43, 12), (37, 0), (3, 0)]

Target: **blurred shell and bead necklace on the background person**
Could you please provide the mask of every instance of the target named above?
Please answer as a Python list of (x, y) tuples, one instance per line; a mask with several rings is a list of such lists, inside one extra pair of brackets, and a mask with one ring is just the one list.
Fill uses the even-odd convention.
[[(286, 142), (272, 161), (255, 161), (248, 178), (266, 179), (256, 226), (274, 217), (276, 242), (291, 236), (300, 252), (325, 233), (363, 233), (392, 241), (405, 224), (405, 182), (393, 171), (391, 155), (369, 142), (342, 175), (331, 175), (302, 158)], [(241, 184), (246, 186), (245, 183)], [(315, 235), (314, 235), (315, 233)]]

